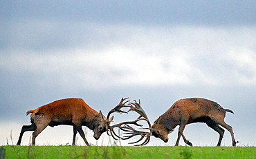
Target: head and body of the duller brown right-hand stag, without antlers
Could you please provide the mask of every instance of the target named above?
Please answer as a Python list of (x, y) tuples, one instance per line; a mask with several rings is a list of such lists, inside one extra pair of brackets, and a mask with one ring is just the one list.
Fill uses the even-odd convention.
[(234, 113), (230, 109), (223, 109), (218, 103), (203, 99), (203, 98), (186, 98), (176, 101), (162, 116), (160, 116), (152, 125), (152, 135), (156, 138), (161, 138), (164, 142), (168, 141), (167, 135), (173, 131), (173, 129), (180, 125), (178, 138), (175, 146), (179, 145), (181, 136), (186, 144), (192, 146), (183, 135), (185, 125), (190, 123), (206, 123), (208, 127), (214, 129), (219, 133), (219, 141), (217, 146), (221, 145), (224, 129), (230, 131), (232, 137), (232, 145), (236, 146), (236, 141), (232, 127), (224, 122), (226, 112)]

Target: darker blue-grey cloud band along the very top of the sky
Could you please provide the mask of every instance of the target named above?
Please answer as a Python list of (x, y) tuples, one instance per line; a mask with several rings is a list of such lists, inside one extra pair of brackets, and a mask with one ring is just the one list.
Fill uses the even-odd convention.
[(255, 25), (255, 1), (2, 1), (2, 19)]

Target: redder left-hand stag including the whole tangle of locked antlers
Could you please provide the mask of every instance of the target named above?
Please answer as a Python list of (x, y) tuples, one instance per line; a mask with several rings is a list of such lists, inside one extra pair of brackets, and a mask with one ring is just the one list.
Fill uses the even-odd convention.
[[(149, 124), (149, 127), (151, 127), (151, 125), (149, 123), (149, 120), (144, 110), (142, 109), (142, 107), (140, 107), (140, 102), (137, 103), (135, 100), (135, 103), (129, 103), (128, 105), (125, 105), (126, 103), (129, 102), (129, 100), (127, 99), (128, 98), (122, 98), (120, 103), (109, 111), (109, 114), (107, 114), (107, 118), (105, 118), (102, 115), (101, 111), (100, 113), (98, 113), (94, 109), (89, 107), (89, 105), (87, 105), (84, 102), (84, 100), (82, 100), (81, 98), (66, 98), (66, 99), (56, 100), (53, 103), (49, 103), (47, 105), (38, 107), (37, 109), (30, 110), (27, 112), (27, 115), (30, 114), (31, 125), (24, 125), (21, 128), (21, 133), (19, 135), (19, 140), (17, 142), (17, 145), (21, 144), (21, 138), (24, 132), (34, 131), (33, 137), (32, 137), (32, 145), (35, 145), (35, 138), (47, 126), (55, 127), (57, 125), (73, 126), (72, 145), (75, 145), (75, 136), (77, 134), (77, 131), (79, 132), (80, 136), (82, 136), (86, 145), (89, 145), (89, 143), (87, 142), (84, 136), (84, 131), (82, 130), (82, 126), (86, 126), (86, 127), (89, 127), (89, 129), (92, 129), (94, 132), (93, 137), (96, 140), (100, 138), (102, 133), (107, 131), (107, 134), (111, 135), (114, 139), (117, 139), (116, 137), (118, 137), (118, 138), (127, 140), (131, 137), (140, 135), (141, 136), (140, 140), (142, 140), (146, 136), (147, 139), (145, 140), (145, 142), (141, 144), (141, 145), (145, 145), (149, 142), (149, 138), (152, 135), (152, 130), (150, 130), (150, 132), (138, 131), (129, 125), (137, 125), (142, 127), (143, 125), (140, 125), (137, 123), (139, 120), (146, 120), (147, 123)], [(128, 112), (130, 111), (137, 112), (138, 114), (140, 114), (139, 118), (134, 121), (123, 122), (123, 123), (119, 123), (111, 126), (110, 123), (113, 120), (113, 116), (111, 118), (109, 117), (112, 113), (114, 112), (121, 113), (121, 114), (128, 113), (121, 110), (123, 107), (130, 107)], [(115, 127), (118, 127), (123, 131), (126, 131), (127, 134), (131, 134), (131, 136), (120, 137), (116, 135), (115, 131), (113, 130)], [(146, 129), (149, 129), (149, 128), (146, 128)], [(137, 142), (139, 142), (140, 140), (138, 140)], [(136, 142), (131, 142), (131, 143), (136, 143)]]

